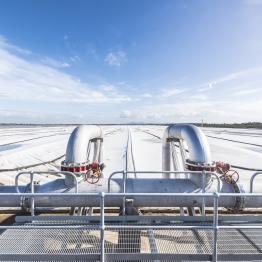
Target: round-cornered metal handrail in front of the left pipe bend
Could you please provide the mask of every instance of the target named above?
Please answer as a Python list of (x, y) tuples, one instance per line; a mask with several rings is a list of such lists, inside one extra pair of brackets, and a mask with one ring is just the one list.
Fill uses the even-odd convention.
[(16, 175), (15, 177), (15, 189), (16, 189), (16, 192), (17, 193), (21, 193), (20, 190), (19, 190), (19, 177), (21, 175), (24, 175), (24, 174), (30, 174), (30, 184), (31, 184), (31, 191), (32, 191), (32, 184), (33, 184), (33, 178), (34, 178), (34, 174), (51, 174), (51, 175), (54, 175), (54, 174), (62, 174), (62, 175), (65, 175), (65, 176), (71, 176), (73, 177), (74, 179), (74, 184), (75, 184), (75, 193), (78, 193), (78, 182), (77, 182), (77, 177), (74, 173), (72, 172), (69, 172), (69, 171), (30, 171), (30, 172), (20, 172)]

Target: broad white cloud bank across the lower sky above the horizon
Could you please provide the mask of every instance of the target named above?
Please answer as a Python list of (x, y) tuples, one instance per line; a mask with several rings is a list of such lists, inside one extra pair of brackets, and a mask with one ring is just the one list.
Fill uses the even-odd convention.
[[(115, 66), (123, 63), (117, 64), (114, 59), (111, 62)], [(106, 122), (114, 117), (115, 121), (156, 123), (195, 122), (202, 118), (207, 122), (262, 121), (262, 67), (233, 72), (197, 87), (174, 83), (154, 92), (125, 82), (94, 86), (63, 72), (64, 67), (67, 65), (63, 61), (39, 56), (37, 59), (32, 52), (20, 50), (0, 37), (1, 121), (59, 122), (63, 114), (63, 122), (80, 121), (80, 115), (83, 122)], [(127, 95), (131, 93), (131, 97)], [(45, 102), (46, 108), (31, 107), (38, 101)], [(124, 102), (130, 101), (126, 106)], [(122, 105), (111, 106), (115, 103)], [(20, 107), (22, 104), (28, 107)], [(49, 105), (58, 111), (53, 113)]]

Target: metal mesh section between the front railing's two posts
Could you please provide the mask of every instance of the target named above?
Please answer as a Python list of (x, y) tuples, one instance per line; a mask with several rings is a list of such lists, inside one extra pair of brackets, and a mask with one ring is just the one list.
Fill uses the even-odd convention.
[[(118, 229), (116, 245), (108, 253), (211, 254), (211, 230)], [(107, 240), (107, 237), (106, 237)]]

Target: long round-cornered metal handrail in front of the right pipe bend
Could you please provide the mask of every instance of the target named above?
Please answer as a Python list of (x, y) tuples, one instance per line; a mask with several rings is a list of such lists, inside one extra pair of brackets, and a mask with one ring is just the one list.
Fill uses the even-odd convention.
[[(123, 175), (123, 184), (124, 184), (124, 189), (126, 188), (126, 179), (127, 179), (127, 174), (197, 174), (197, 175), (202, 175), (203, 176), (203, 180), (202, 180), (202, 192), (205, 189), (205, 182), (206, 182), (206, 175), (210, 174), (211, 176), (215, 177), (217, 180), (217, 192), (220, 190), (221, 188), (221, 182), (220, 182), (220, 178), (219, 176), (214, 173), (214, 172), (208, 172), (208, 171), (115, 171), (113, 173), (111, 173), (108, 177), (108, 182), (107, 182), (107, 189), (108, 192), (111, 191), (110, 188), (110, 182), (113, 176), (117, 175), (117, 174), (122, 174)], [(139, 178), (136, 178), (139, 179)], [(161, 178), (161, 179), (169, 179), (169, 178)], [(125, 193), (125, 190), (124, 190)]]

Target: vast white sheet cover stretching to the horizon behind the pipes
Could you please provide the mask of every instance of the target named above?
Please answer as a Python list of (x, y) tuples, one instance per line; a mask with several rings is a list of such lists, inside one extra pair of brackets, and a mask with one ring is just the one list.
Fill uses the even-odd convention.
[[(65, 154), (74, 126), (0, 126), (0, 170), (38, 164)], [(105, 176), (114, 171), (161, 171), (162, 135), (165, 126), (103, 126)], [(212, 158), (232, 165), (262, 169), (262, 130), (203, 128)], [(127, 161), (126, 161), (127, 155)], [(59, 170), (62, 159), (28, 170)], [(248, 189), (255, 171), (237, 169)], [(18, 171), (0, 172), (1, 184), (14, 184)], [(39, 181), (53, 179), (38, 175)], [(261, 185), (261, 186), (260, 186)], [(255, 188), (262, 188), (262, 175)]]

